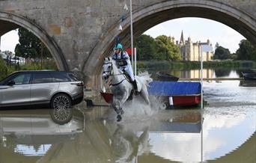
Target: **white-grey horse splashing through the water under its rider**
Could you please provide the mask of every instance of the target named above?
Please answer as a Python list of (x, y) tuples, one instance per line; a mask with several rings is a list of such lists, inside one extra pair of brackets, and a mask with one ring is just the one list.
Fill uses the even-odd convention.
[[(126, 102), (129, 98), (130, 93), (133, 90), (133, 86), (127, 79), (127, 76), (125, 76), (125, 74), (118, 69), (115, 63), (113, 63), (112, 58), (104, 58), (102, 74), (103, 80), (105, 80), (105, 82), (108, 82), (110, 76), (112, 77), (110, 89), (113, 93), (111, 105), (114, 108), (115, 112), (118, 114), (117, 121), (119, 122), (122, 119), (121, 114), (124, 114), (122, 106), (124, 105), (124, 102)], [(148, 73), (141, 73), (138, 76), (135, 76), (135, 80), (138, 85), (138, 92), (147, 103), (147, 105), (150, 105), (150, 100), (147, 92), (147, 84), (151, 82), (152, 79), (150, 78)]]

